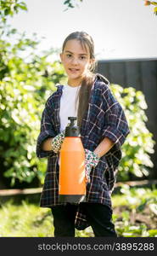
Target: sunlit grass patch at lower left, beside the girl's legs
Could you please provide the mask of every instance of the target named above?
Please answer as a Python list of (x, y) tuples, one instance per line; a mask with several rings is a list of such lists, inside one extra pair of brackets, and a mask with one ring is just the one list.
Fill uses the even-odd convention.
[(47, 208), (22, 201), (8, 201), (0, 210), (0, 236), (53, 236), (53, 218)]

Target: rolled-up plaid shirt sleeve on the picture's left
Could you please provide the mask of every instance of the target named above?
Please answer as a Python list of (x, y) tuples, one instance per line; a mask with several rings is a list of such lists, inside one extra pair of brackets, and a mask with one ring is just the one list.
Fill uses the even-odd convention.
[(39, 158), (48, 157), (50, 154), (53, 154), (53, 150), (45, 151), (42, 149), (42, 143), (48, 139), (48, 137), (55, 137), (56, 135), (51, 116), (52, 115), (47, 102), (42, 112), (41, 131), (36, 142), (36, 156)]

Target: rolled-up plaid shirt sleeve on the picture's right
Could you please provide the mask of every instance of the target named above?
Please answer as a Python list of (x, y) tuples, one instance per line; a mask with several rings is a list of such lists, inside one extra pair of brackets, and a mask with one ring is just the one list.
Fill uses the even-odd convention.
[(130, 133), (126, 115), (109, 88), (106, 87), (102, 95), (105, 108), (102, 137), (108, 137), (120, 148)]

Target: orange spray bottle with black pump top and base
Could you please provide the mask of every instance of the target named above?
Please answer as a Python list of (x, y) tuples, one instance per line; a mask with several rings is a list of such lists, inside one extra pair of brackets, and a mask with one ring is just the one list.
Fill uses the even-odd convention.
[(64, 142), (60, 150), (59, 201), (86, 201), (85, 151), (81, 143), (76, 117), (69, 117)]

